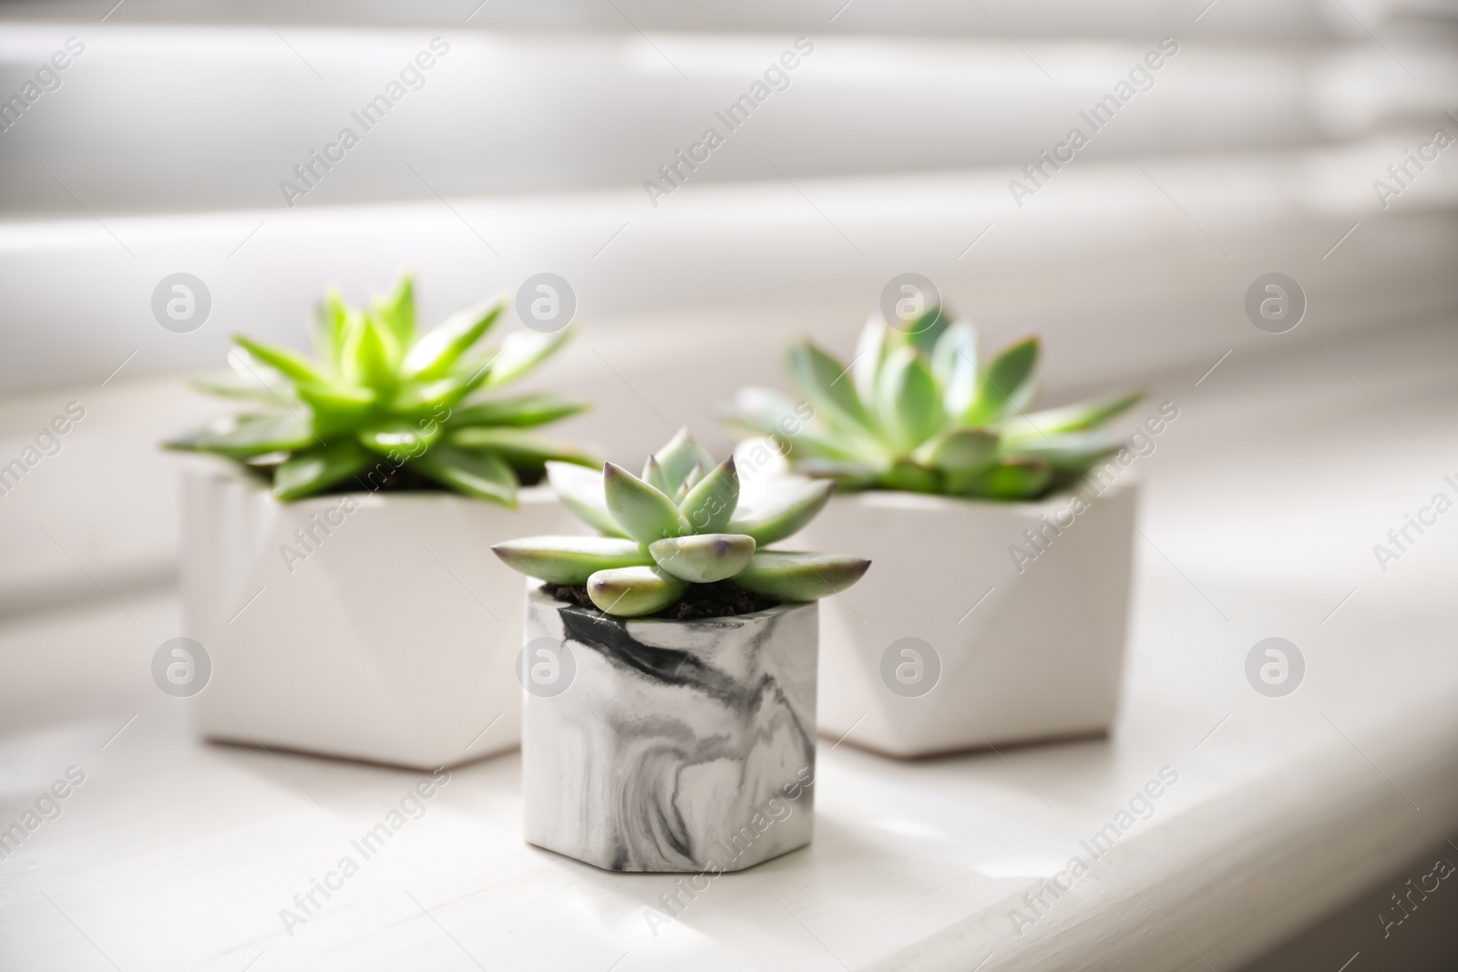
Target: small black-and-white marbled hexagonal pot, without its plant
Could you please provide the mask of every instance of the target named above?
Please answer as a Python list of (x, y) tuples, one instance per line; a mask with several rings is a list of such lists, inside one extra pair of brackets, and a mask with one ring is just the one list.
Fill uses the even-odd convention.
[(612, 618), (532, 590), (526, 839), (615, 871), (716, 874), (811, 841), (815, 605)]

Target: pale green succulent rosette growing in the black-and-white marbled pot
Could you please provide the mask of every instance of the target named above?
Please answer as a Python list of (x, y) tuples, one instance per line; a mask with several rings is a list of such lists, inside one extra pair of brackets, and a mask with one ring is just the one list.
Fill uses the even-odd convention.
[(720, 581), (780, 602), (816, 600), (870, 567), (857, 557), (761, 549), (809, 523), (835, 484), (781, 477), (741, 503), (733, 459), (714, 465), (687, 430), (649, 456), (643, 478), (611, 462), (601, 477), (548, 462), (547, 475), (563, 506), (601, 536), (532, 536), (491, 549), (529, 577), (586, 586), (609, 615), (656, 614), (695, 584)]

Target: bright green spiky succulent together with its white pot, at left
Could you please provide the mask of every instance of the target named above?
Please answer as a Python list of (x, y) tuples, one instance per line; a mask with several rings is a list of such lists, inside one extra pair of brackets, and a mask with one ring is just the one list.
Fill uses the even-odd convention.
[(417, 334), (405, 277), (369, 307), (330, 293), (315, 357), (238, 337), (198, 385), (262, 405), (168, 443), (188, 463), (182, 590), (211, 659), (203, 736), (434, 768), (519, 742), (521, 590), (491, 544), (564, 517), (532, 485), (595, 462), (534, 427), (585, 405), (494, 396), (570, 338), (483, 338), (496, 299)]

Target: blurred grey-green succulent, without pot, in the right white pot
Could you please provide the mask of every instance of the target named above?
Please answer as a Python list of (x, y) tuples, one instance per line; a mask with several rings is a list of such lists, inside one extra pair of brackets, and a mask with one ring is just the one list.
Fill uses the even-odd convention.
[(949, 322), (942, 307), (904, 329), (873, 318), (849, 367), (808, 340), (790, 345), (790, 382), (805, 404), (748, 388), (728, 418), (776, 439), (798, 472), (846, 488), (1035, 498), (1115, 453), (1120, 440), (1098, 427), (1143, 398), (1028, 414), (1038, 350), (1028, 338), (983, 364), (972, 325)]

